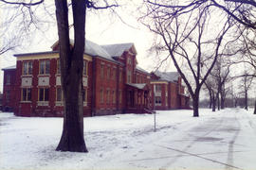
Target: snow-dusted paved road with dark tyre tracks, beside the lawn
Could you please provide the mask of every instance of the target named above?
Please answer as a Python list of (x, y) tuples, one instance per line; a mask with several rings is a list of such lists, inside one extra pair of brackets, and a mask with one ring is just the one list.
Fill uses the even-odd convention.
[(194, 127), (181, 125), (181, 130), (172, 134), (172, 141), (163, 138), (155, 143), (157, 157), (149, 156), (133, 163), (140, 167), (150, 164), (160, 169), (255, 170), (255, 122), (246, 112), (230, 111)]

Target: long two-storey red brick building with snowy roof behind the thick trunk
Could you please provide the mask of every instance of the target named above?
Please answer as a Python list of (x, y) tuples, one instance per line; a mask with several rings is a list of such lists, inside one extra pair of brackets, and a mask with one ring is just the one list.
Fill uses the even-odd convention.
[[(59, 43), (55, 42), (51, 48), (52, 51), (16, 54), (16, 66), (3, 69), (4, 110), (13, 110), (20, 116), (63, 115)], [(85, 42), (82, 76), (84, 116), (147, 112), (154, 108), (154, 96), (157, 97), (155, 109), (188, 108), (185, 99), (182, 102), (186, 97), (182, 97), (184, 87), (180, 77), (177, 76), (179, 79), (175, 81), (149, 74), (137, 67), (136, 56), (133, 43), (99, 45)], [(156, 86), (154, 95), (152, 92)], [(165, 92), (168, 92), (168, 102), (165, 101)], [(178, 98), (179, 102), (174, 103), (172, 97)]]

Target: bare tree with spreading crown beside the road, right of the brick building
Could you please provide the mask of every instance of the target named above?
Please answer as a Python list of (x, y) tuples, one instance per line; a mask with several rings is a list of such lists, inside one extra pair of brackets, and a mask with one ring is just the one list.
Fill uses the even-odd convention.
[(208, 4), (200, 8), (183, 8), (164, 3), (146, 1), (146, 13), (140, 21), (157, 36), (155, 50), (165, 52), (168, 58), (173, 59), (192, 96), (193, 116), (197, 117), (200, 89), (210, 75), (224, 36), (232, 24), (227, 19), (227, 22), (219, 23), (221, 28), (215, 27), (210, 35), (208, 31), (213, 21)]

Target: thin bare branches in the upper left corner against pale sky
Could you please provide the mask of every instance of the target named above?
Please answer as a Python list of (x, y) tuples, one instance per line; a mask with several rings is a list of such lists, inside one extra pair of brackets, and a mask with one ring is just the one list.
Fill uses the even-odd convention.
[[(25, 46), (24, 40), (29, 40), (33, 33), (36, 32), (35, 30), (43, 32), (46, 30), (50, 22), (40, 20), (39, 16), (35, 14), (35, 10), (38, 8), (45, 8), (42, 2), (16, 3), (0, 0), (1, 14), (3, 16), (0, 22), (0, 55), (15, 50), (17, 47)], [(46, 13), (44, 13), (45, 19), (49, 16)], [(43, 23), (44, 26), (42, 26)]]

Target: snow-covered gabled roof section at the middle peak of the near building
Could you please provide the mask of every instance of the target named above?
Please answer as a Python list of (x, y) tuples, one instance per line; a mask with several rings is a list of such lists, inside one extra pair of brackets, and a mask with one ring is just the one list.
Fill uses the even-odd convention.
[[(105, 44), (101, 45), (102, 48), (104, 48), (108, 54), (111, 57), (119, 57), (122, 55), (124, 51), (129, 50), (130, 48), (134, 47), (134, 43), (116, 43), (116, 44)], [(134, 48), (135, 53), (137, 54), (137, 51)]]

